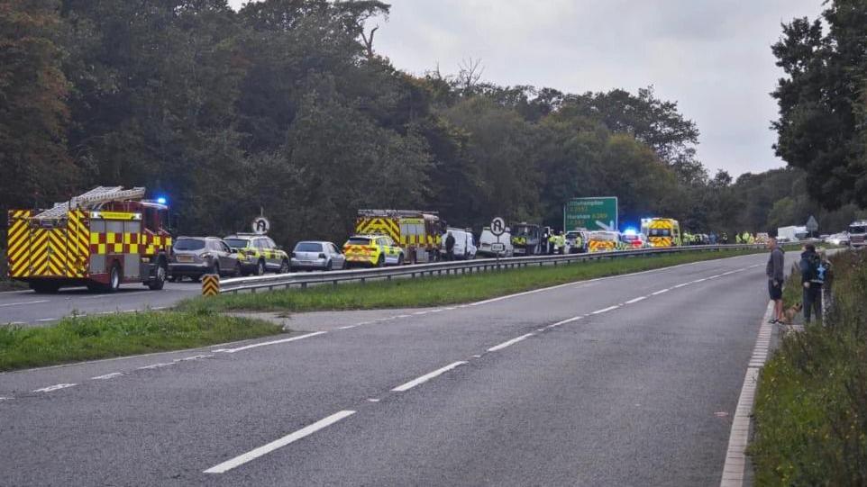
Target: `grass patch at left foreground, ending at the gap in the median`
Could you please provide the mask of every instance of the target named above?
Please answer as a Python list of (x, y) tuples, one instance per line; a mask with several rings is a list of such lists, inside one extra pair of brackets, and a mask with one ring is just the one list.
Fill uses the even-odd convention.
[(282, 328), (208, 312), (141, 311), (70, 317), (52, 327), (0, 327), (0, 371), (205, 347)]

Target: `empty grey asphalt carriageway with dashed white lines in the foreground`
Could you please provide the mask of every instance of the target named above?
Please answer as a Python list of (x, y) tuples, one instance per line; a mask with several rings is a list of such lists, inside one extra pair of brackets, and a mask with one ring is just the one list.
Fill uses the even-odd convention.
[(766, 258), (0, 374), (0, 483), (718, 485)]

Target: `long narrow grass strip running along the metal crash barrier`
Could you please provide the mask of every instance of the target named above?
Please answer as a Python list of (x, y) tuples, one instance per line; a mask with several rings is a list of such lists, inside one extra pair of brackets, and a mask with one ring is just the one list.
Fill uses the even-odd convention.
[(473, 275), (395, 279), (367, 284), (321, 285), (306, 290), (222, 294), (178, 304), (184, 311), (333, 311), (441, 306), (475, 302), (541, 287), (621, 275), (764, 250), (685, 252), (656, 257), (618, 257), (569, 266), (508, 269)]

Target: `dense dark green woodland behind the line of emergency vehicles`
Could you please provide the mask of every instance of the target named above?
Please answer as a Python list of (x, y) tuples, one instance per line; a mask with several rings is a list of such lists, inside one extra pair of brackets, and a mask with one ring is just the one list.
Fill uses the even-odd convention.
[(616, 195), (621, 221), (730, 233), (821, 211), (797, 169), (709, 176), (695, 123), (652, 88), (497, 86), (472, 63), (407, 75), (365, 35), (388, 9), (0, 2), (0, 208), (146, 185), (183, 233), (244, 230), (264, 211), (286, 244), (342, 239), (359, 208), (559, 227), (570, 197)]

